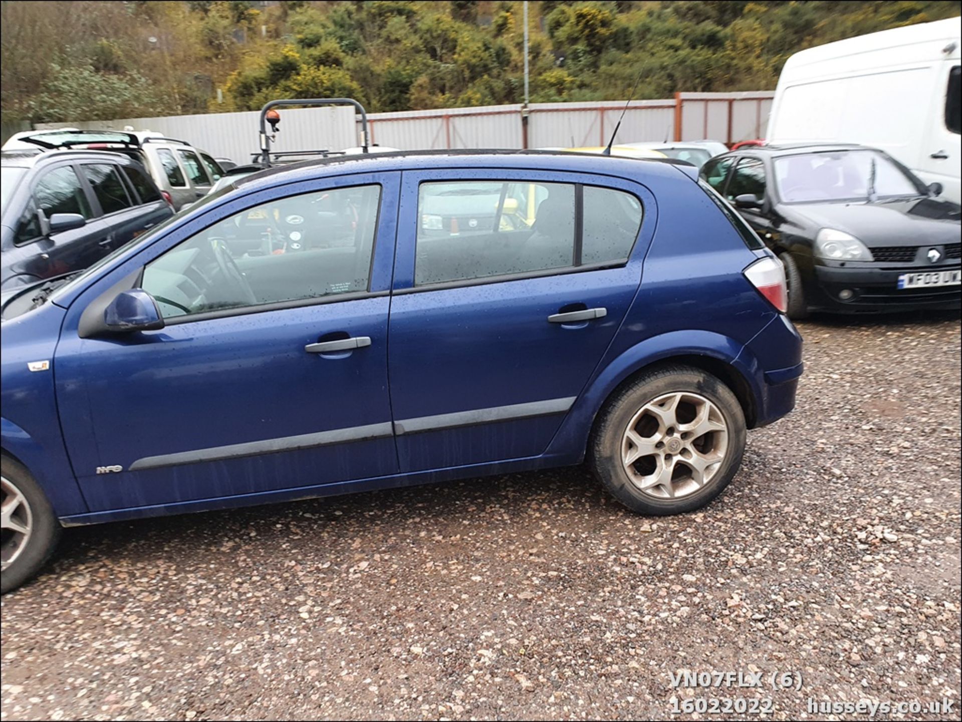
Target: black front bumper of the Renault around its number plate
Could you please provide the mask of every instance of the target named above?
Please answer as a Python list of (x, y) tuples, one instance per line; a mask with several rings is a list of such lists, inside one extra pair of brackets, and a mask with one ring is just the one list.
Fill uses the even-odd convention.
[[(958, 309), (962, 286), (899, 288), (899, 276), (905, 273), (957, 270), (957, 262), (926, 267), (816, 265), (815, 283), (806, 289), (808, 303), (813, 309), (842, 313)], [(850, 297), (845, 291), (850, 291)]]

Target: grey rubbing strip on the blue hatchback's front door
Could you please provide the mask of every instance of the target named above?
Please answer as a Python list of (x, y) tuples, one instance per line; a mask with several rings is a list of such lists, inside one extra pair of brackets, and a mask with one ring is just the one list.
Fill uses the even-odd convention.
[(228, 446), (212, 446), (209, 449), (182, 451), (176, 454), (163, 454), (158, 457), (144, 457), (130, 465), (129, 471), (156, 469), (161, 466), (177, 466), (184, 463), (198, 461), (220, 461), (223, 459), (237, 459), (260, 454), (273, 454), (281, 451), (295, 451), (310, 449), (316, 446), (345, 443), (348, 441), (366, 441), (371, 438), (392, 436), (391, 422), (368, 424), (367, 426), (352, 426), (348, 429), (334, 429), (316, 434), (301, 434), (298, 436), (282, 436), (280, 438), (266, 438), (263, 441), (248, 441), (242, 444)]

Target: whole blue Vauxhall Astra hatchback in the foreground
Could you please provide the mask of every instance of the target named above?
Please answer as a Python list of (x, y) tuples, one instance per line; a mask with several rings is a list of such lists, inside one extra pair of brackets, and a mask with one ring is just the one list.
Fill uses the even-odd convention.
[(3, 590), (62, 526), (587, 461), (698, 509), (795, 405), (781, 263), (694, 166), (272, 168), (3, 299)]

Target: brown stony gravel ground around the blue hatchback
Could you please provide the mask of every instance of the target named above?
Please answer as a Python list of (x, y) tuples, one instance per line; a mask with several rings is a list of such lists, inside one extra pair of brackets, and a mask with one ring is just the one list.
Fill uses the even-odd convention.
[(560, 469), (67, 530), (3, 599), (2, 716), (958, 719), (958, 315), (799, 329), (797, 411), (699, 513)]

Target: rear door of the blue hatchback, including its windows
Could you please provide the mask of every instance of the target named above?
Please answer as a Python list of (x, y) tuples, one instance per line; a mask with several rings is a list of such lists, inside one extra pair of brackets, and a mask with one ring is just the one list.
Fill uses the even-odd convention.
[(389, 350), (402, 471), (544, 452), (638, 289), (654, 216), (620, 179), (404, 173)]

